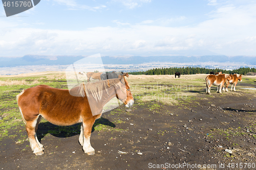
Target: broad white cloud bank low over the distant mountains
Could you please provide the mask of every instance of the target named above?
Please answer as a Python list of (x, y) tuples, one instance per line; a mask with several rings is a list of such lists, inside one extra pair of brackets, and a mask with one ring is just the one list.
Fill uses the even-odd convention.
[[(216, 7), (197, 25), (170, 27), (186, 17), (144, 20), (140, 24), (113, 20), (118, 26), (81, 31), (18, 28), (0, 20), (1, 56), (35, 55), (140, 55), (178, 54), (208, 50), (224, 55), (256, 54), (256, 4)], [(8, 26), (8, 27), (7, 27)]]

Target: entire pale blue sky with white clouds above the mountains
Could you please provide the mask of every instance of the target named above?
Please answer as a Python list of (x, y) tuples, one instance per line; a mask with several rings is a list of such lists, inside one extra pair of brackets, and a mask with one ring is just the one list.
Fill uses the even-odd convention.
[(0, 57), (256, 56), (256, 1), (41, 0), (6, 17)]

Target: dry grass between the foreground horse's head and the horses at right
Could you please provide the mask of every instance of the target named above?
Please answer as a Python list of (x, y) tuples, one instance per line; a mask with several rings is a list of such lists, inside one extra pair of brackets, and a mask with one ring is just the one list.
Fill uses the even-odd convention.
[(178, 100), (186, 100), (198, 92), (187, 91), (205, 88), (206, 74), (182, 75), (131, 75), (127, 81), (135, 98), (140, 101), (159, 101), (165, 104), (177, 104)]

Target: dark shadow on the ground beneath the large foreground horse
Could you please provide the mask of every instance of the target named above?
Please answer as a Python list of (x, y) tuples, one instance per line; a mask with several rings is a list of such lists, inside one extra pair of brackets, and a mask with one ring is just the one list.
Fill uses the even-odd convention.
[[(100, 124), (105, 126), (110, 126), (112, 128), (116, 127), (116, 125), (110, 122), (109, 119), (101, 117), (95, 121), (92, 128), (92, 132), (94, 132), (95, 127)], [(36, 132), (36, 135), (40, 142), (41, 139), (44, 138), (47, 134), (51, 134), (55, 137), (65, 138), (65, 137), (70, 137), (70, 136), (75, 136), (80, 134), (80, 129), (81, 129), (81, 123), (75, 124), (72, 126), (56, 126), (49, 122), (44, 122), (38, 125), (38, 130)]]

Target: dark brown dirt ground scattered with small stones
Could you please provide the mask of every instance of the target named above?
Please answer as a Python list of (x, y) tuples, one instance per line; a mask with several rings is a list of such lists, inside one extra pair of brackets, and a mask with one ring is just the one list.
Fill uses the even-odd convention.
[[(0, 169), (255, 169), (255, 95), (239, 89), (207, 95), (205, 87), (187, 92), (197, 98), (178, 105), (135, 100), (131, 111), (122, 105), (102, 114), (92, 129), (93, 156), (78, 142), (80, 124), (62, 132), (40, 123), (45, 153), (35, 156), (29, 141), (2, 140)], [(20, 133), (26, 135), (24, 126)]]

